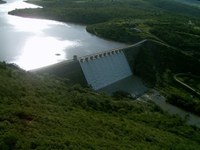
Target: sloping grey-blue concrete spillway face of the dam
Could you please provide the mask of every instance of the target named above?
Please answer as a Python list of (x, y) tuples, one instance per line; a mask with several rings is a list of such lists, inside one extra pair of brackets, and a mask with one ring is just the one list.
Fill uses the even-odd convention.
[(132, 75), (122, 51), (112, 51), (79, 59), (83, 74), (94, 90)]

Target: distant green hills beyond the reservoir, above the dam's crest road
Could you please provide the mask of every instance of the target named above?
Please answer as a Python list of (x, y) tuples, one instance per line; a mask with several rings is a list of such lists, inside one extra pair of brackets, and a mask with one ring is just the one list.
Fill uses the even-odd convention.
[(9, 14), (86, 24), (102, 38), (154, 39), (200, 59), (200, 9), (173, 0), (29, 0), (43, 6)]

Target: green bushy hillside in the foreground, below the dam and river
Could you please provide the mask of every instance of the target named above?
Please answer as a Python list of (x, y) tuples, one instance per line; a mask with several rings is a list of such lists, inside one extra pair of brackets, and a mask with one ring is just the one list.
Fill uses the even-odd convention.
[(151, 102), (112, 98), (0, 63), (0, 149), (200, 149), (200, 130)]

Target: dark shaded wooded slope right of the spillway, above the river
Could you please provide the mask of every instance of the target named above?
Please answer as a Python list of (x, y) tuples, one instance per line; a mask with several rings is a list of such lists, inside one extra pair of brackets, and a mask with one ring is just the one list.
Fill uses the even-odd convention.
[(155, 41), (146, 42), (133, 60), (135, 74), (159, 89), (168, 102), (200, 115), (199, 97), (174, 80), (180, 72), (200, 75), (198, 60)]

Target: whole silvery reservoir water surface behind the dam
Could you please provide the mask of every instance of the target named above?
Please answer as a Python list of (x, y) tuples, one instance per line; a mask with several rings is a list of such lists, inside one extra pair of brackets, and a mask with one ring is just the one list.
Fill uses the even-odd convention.
[(31, 70), (125, 44), (98, 38), (86, 27), (45, 19), (8, 15), (20, 8), (37, 8), (22, 0), (7, 0), (0, 5), (0, 61)]

